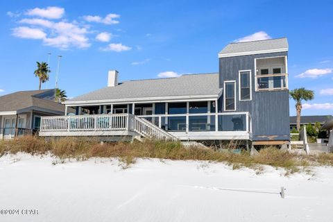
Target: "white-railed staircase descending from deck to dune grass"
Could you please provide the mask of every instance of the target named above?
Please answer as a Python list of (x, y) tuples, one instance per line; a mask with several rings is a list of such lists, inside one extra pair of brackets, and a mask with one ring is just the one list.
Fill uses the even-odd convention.
[(158, 139), (158, 140), (171, 140), (171, 141), (178, 140), (177, 137), (171, 135), (162, 128), (159, 128), (158, 126), (155, 126), (150, 121), (137, 117), (135, 115), (133, 115), (133, 117), (134, 117), (133, 130), (142, 137), (148, 139)]

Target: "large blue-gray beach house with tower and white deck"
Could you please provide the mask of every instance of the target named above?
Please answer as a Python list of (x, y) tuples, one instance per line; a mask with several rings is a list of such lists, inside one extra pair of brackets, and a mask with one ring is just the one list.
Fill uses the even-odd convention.
[(109, 71), (108, 87), (64, 103), (77, 116), (42, 118), (40, 135), (289, 144), (287, 54), (280, 38), (228, 44), (219, 73), (118, 83)]

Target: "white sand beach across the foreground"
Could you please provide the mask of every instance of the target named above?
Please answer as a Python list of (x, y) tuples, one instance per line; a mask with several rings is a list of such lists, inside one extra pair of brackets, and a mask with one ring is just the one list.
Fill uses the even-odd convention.
[(137, 160), (121, 169), (110, 159), (53, 160), (0, 158), (0, 210), (39, 213), (0, 221), (332, 221), (332, 167), (285, 177), (271, 167), (256, 175), (196, 161)]

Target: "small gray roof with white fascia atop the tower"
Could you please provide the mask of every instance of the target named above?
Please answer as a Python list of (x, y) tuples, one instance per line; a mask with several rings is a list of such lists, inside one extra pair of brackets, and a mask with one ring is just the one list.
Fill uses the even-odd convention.
[(287, 37), (251, 42), (234, 42), (219, 52), (219, 58), (288, 51)]

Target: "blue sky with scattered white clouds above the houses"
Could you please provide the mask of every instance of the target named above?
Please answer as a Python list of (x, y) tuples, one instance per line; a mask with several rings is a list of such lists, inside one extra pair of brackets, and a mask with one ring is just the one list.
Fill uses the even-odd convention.
[[(1, 1), (0, 95), (37, 89), (51, 52), (49, 88), (69, 97), (120, 80), (218, 71), (229, 42), (288, 37), (289, 88), (316, 93), (302, 114), (333, 114), (332, 1)], [(43, 88), (46, 84), (43, 85)], [(290, 103), (295, 114), (294, 103)]]

